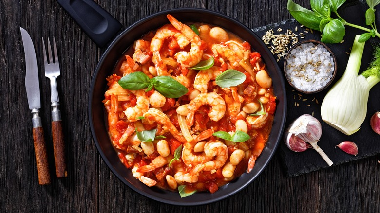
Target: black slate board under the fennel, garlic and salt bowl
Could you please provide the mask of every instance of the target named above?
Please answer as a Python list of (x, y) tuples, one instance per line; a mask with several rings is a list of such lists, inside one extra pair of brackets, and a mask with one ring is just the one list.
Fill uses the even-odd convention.
[[(338, 10), (339, 15), (344, 18), (347, 22), (363, 26), (365, 24), (365, 11), (368, 9), (367, 4), (364, 1), (358, 1), (340, 8)], [(355, 16), (352, 16), (355, 14)], [(376, 10), (377, 17), (377, 26), (380, 27), (380, 13), (379, 8)], [(298, 31), (295, 32), (296, 26)], [(282, 28), (282, 32), (277, 32), (278, 28)], [(303, 32), (306, 36), (304, 39), (316, 39), (320, 40), (321, 33), (313, 31), (313, 33), (305, 33), (305, 27), (301, 28), (299, 24), (294, 19), (285, 20), (282, 22), (266, 25), (263, 27), (258, 27), (253, 29), (253, 31), (262, 37), (265, 35), (266, 31), (273, 29), (274, 35), (285, 34), (287, 29), (292, 30), (294, 33), (299, 35)], [(333, 83), (323, 91), (316, 94), (304, 94), (294, 90), (286, 82), (286, 95), (288, 98), (288, 111), (286, 118), (286, 127), (294, 121), (296, 118), (302, 114), (314, 114), (314, 117), (317, 118), (322, 124), (322, 137), (318, 142), (318, 145), (321, 149), (329, 156), (329, 158), (334, 162), (333, 166), (339, 165), (351, 160), (357, 160), (365, 158), (368, 156), (376, 155), (380, 153), (380, 135), (376, 134), (370, 127), (370, 118), (376, 112), (380, 111), (380, 84), (375, 85), (369, 95), (367, 116), (361, 128), (358, 132), (354, 133), (351, 136), (344, 135), (328, 124), (324, 123), (321, 118), (321, 103), (323, 97), (326, 95), (327, 91), (342, 77), (343, 72), (345, 71), (348, 57), (347, 53), (350, 52), (350, 47), (353, 44), (355, 35), (362, 34), (364, 31), (358, 30), (346, 26), (346, 35), (344, 36), (344, 42), (340, 44), (327, 44), (336, 55), (338, 71), (336, 73)], [(372, 50), (373, 45), (380, 42), (378, 37), (372, 38), (366, 42), (364, 47), (364, 53), (361, 60), (361, 69), (359, 73), (364, 71), (369, 63), (372, 60)], [(289, 47), (290, 48), (290, 47)], [(346, 53), (347, 52), (347, 53)], [(277, 58), (277, 57), (276, 57)], [(284, 58), (278, 62), (280, 68), (284, 70)], [(285, 78), (285, 75), (284, 75)], [(302, 95), (302, 97), (300, 96)], [(307, 99), (303, 101), (303, 99)], [(312, 101), (314, 99), (314, 101)], [(317, 103), (317, 101), (318, 103)], [(352, 100), (355, 101), (355, 100)], [(294, 103), (298, 103), (299, 106), (294, 106)], [(310, 106), (308, 106), (310, 105)], [(344, 153), (339, 148), (335, 148), (340, 142), (343, 141), (353, 141), (359, 147), (359, 153), (357, 156), (352, 156)], [(304, 173), (309, 173), (312, 171), (317, 171), (323, 168), (327, 168), (327, 163), (322, 159), (322, 157), (313, 149), (307, 149), (304, 152), (293, 152), (287, 148), (283, 141), (280, 142), (281, 157), (285, 167), (285, 173), (289, 177), (294, 177), (302, 175)]]

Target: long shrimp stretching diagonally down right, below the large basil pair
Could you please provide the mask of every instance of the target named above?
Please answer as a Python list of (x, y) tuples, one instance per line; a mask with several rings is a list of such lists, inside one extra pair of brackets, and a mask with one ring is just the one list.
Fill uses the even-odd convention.
[(158, 124), (161, 124), (163, 125), (163, 129), (165, 132), (169, 131), (174, 136), (174, 138), (176, 138), (178, 141), (182, 143), (187, 142), (186, 139), (182, 136), (182, 134), (178, 132), (178, 129), (174, 126), (174, 124), (171, 123), (169, 117), (160, 110), (150, 108), (142, 116), (145, 117), (145, 119), (142, 120), (143, 123), (153, 124), (154, 122), (156, 122)]

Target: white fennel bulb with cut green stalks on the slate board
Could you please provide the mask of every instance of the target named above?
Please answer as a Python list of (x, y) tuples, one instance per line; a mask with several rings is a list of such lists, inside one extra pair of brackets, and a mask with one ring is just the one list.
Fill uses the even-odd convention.
[(359, 37), (355, 37), (342, 78), (327, 92), (321, 106), (322, 120), (346, 135), (360, 129), (367, 114), (369, 90), (380, 82), (379, 46), (371, 66), (358, 75), (365, 44)]

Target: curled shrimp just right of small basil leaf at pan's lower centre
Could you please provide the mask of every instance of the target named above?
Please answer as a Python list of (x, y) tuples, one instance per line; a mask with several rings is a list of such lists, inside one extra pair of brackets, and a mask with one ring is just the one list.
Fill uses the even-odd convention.
[(203, 164), (212, 160), (212, 157), (206, 156), (204, 152), (200, 154), (195, 154), (193, 152), (194, 145), (190, 143), (185, 143), (182, 149), (182, 161), (183, 163), (185, 163), (185, 165), (196, 166), (198, 164)]

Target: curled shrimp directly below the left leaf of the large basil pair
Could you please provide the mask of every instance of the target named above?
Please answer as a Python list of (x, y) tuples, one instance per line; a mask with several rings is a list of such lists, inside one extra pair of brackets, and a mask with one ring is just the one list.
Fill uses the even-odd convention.
[(130, 122), (137, 121), (137, 117), (143, 116), (143, 114), (149, 109), (149, 98), (144, 90), (140, 89), (132, 92), (137, 97), (136, 106), (129, 107), (124, 111), (124, 114)]

